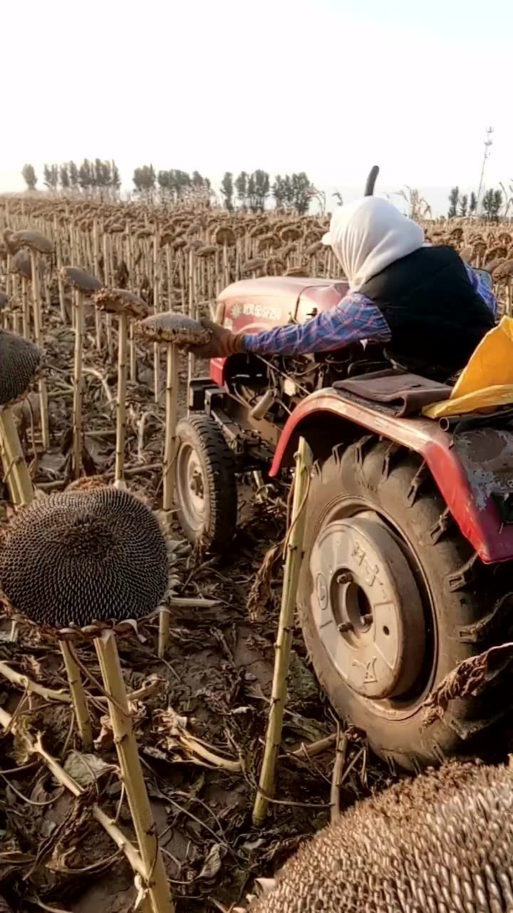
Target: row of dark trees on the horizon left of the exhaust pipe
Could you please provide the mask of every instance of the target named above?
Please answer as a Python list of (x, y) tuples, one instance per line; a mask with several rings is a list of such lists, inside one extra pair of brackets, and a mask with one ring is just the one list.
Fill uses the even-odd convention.
[[(25, 164), (22, 175), (29, 191), (37, 189), (37, 173), (32, 164)], [(156, 171), (152, 164), (145, 164), (133, 171), (133, 193), (140, 199), (152, 202), (179, 203), (191, 198), (203, 198), (208, 203), (214, 194), (207, 177), (197, 171), (188, 173), (180, 169)], [(114, 161), (84, 159), (81, 164), (65, 162), (43, 166), (43, 184), (48, 191), (57, 194), (68, 192), (118, 197), (120, 194), (120, 171)], [(240, 172), (235, 178), (233, 172), (225, 172), (220, 186), (223, 205), (228, 212), (236, 209), (243, 212), (259, 213), (267, 208), (269, 197), (274, 199), (277, 210), (293, 210), (306, 215), (312, 199), (326, 204), (322, 194), (311, 184), (305, 172), (277, 174), (271, 184), (268, 172), (257, 169), (254, 172)]]

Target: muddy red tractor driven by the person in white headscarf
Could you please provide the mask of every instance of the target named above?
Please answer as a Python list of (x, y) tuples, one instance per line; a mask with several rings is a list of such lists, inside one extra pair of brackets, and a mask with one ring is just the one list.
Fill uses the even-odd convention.
[[(330, 278), (241, 280), (220, 295), (217, 320), (247, 332), (309, 320), (346, 290)], [(309, 442), (300, 624), (333, 708), (392, 768), (466, 752), (504, 729), (512, 702), (490, 675), (424, 727), (445, 676), (513, 633), (513, 408), (445, 426), (422, 416), (448, 393), (371, 346), (237, 354), (191, 383), (178, 429), (183, 530), (215, 549), (236, 530), (237, 473), (287, 478), (298, 437)]]

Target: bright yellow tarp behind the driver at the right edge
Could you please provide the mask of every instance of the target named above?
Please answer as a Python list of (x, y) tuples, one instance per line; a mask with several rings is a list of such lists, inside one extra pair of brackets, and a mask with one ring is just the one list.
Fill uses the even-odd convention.
[(503, 317), (479, 342), (448, 400), (425, 406), (430, 418), (465, 415), (513, 403), (513, 318)]

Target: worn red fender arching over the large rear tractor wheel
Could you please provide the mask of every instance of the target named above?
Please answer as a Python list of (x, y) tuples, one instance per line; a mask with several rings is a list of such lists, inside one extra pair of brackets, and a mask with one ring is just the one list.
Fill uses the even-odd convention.
[[(345, 420), (348, 426), (361, 425), (375, 435), (383, 436), (420, 454), (445, 498), (445, 503), (459, 529), (472, 544), (479, 558), (491, 563), (513, 558), (513, 526), (504, 525), (497, 504), (492, 498), (493, 470), (483, 470), (483, 458), (467, 462), (467, 471), (455, 452), (453, 437), (437, 422), (428, 418), (394, 418), (370, 406), (346, 400), (343, 394), (319, 390), (309, 395), (289, 416), (273, 459), (269, 475), (277, 476), (283, 466), (290, 466), (299, 436), (305, 436), (314, 456), (323, 444), (323, 428), (319, 419), (329, 416)], [(315, 416), (315, 423), (312, 421)], [(315, 424), (315, 428), (313, 425)], [(489, 429), (494, 432), (493, 429)], [(488, 432), (488, 429), (487, 429)], [(330, 437), (327, 434), (328, 437)], [(343, 437), (342, 437), (343, 439)], [(511, 446), (511, 437), (508, 438)], [(513, 461), (509, 462), (513, 466)], [(474, 470), (474, 471), (472, 471)], [(513, 470), (511, 472), (513, 479)], [(497, 486), (498, 488), (498, 486)]]

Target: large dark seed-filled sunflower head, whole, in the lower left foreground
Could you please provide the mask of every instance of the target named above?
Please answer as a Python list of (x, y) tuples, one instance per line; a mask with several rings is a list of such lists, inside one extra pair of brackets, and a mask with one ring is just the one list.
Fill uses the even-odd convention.
[(0, 587), (29, 621), (56, 630), (151, 614), (169, 582), (166, 541), (127, 491), (64, 491), (16, 515), (0, 551)]

